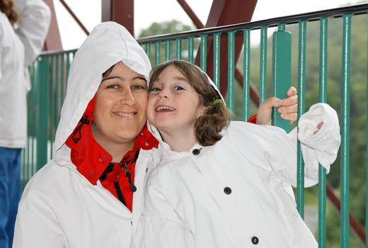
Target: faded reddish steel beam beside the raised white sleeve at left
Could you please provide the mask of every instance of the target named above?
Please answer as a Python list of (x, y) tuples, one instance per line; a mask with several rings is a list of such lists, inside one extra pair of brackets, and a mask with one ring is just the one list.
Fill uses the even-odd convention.
[(44, 50), (62, 50), (62, 38), (60, 36), (59, 26), (57, 25), (56, 12), (54, 2), (52, 0), (44, 0), (51, 11), (51, 22), (49, 32), (47, 33)]

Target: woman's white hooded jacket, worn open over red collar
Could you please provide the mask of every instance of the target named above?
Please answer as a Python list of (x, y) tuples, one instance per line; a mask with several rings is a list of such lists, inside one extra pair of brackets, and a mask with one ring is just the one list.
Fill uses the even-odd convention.
[(132, 224), (142, 208), (142, 188), (152, 151), (139, 153), (131, 213), (100, 181), (92, 185), (76, 170), (70, 148), (64, 144), (95, 95), (103, 72), (120, 61), (148, 79), (151, 65), (142, 47), (119, 24), (100, 23), (71, 64), (54, 159), (25, 187), (13, 247), (130, 247)]

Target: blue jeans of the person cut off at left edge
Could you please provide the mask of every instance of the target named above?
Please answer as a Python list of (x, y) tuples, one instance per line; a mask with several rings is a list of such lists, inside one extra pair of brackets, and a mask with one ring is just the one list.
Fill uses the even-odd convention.
[(21, 149), (0, 147), (0, 247), (10, 248), (21, 198)]

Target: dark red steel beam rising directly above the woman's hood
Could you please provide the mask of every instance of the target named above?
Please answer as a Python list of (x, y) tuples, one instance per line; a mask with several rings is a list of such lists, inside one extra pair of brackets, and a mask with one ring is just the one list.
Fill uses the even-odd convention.
[(134, 0), (101, 0), (102, 21), (115, 21), (134, 36)]

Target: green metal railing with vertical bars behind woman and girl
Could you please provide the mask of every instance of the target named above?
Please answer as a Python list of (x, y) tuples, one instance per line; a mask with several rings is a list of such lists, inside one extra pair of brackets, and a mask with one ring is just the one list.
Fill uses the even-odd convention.
[[(257, 104), (251, 103), (251, 85), (252, 80), (257, 81), (259, 101), (264, 101), (268, 96), (273, 95), (280, 98), (285, 96), (286, 90), (290, 85), (298, 89), (298, 118), (304, 113), (306, 96), (311, 89), (311, 75), (308, 73), (307, 65), (309, 61), (316, 64), (319, 69), (317, 85), (318, 96), (316, 101), (330, 103), (328, 101), (328, 24), (340, 23), (342, 28), (335, 29), (333, 32), (340, 32), (341, 41), (341, 92), (340, 92), (340, 125), (342, 143), (340, 148), (340, 198), (341, 202), (335, 203), (336, 208), (340, 207), (340, 247), (350, 246), (350, 227), (357, 233), (362, 244), (366, 244), (367, 234), (364, 229), (355, 222), (353, 216), (350, 218), (350, 58), (351, 50), (351, 31), (352, 18), (362, 16), (368, 23), (368, 4), (349, 6), (340, 9), (331, 9), (328, 11), (318, 11), (314, 13), (304, 13), (297, 16), (287, 16), (283, 18), (274, 18), (265, 21), (253, 23), (241, 23), (232, 26), (207, 28), (185, 33), (171, 35), (158, 35), (150, 38), (138, 40), (144, 47), (153, 65), (159, 64), (173, 58), (197, 62), (199, 66), (207, 71), (213, 69), (213, 74), (209, 75), (214, 79), (217, 86), (226, 86), (226, 104), (234, 113), (240, 113), (239, 118), (246, 120), (251, 112), (255, 112)], [(275, 30), (277, 28), (277, 30)], [(309, 38), (307, 28), (317, 29), (319, 37), (318, 52), (311, 60), (307, 60)], [(309, 30), (309, 29), (308, 29)], [(260, 32), (258, 45), (252, 46), (251, 36)], [(368, 37), (368, 31), (362, 30)], [(272, 46), (269, 46), (270, 40), (268, 33), (273, 33)], [(243, 52), (241, 60), (236, 61), (236, 39), (239, 34), (243, 38)], [(227, 46), (222, 45), (222, 38), (226, 38)], [(367, 43), (367, 40), (366, 40)], [(208, 64), (207, 46), (213, 44), (213, 64)], [(297, 45), (293, 45), (297, 44)], [(293, 47), (297, 47), (297, 52), (292, 52)], [(269, 55), (268, 47), (272, 48), (272, 56)], [(368, 45), (362, 47), (367, 51)], [(252, 51), (256, 49), (258, 54)], [(197, 52), (196, 52), (197, 51)], [(41, 55), (33, 67), (30, 68), (33, 77), (33, 90), (28, 96), (28, 147), (23, 155), (23, 180), (28, 181), (35, 171), (40, 169), (48, 159), (52, 158), (52, 144), (54, 142), (54, 133), (59, 120), (60, 108), (64, 99), (67, 74), (69, 65), (75, 51), (45, 53)], [(227, 72), (220, 68), (221, 52), (227, 53)], [(365, 59), (368, 54), (365, 52)], [(197, 60), (196, 60), (197, 58)], [(255, 62), (253, 62), (253, 60)], [(292, 68), (292, 61), (297, 61), (297, 68)], [(254, 69), (256, 68), (256, 69)], [(272, 68), (272, 86), (268, 85), (268, 69)], [(236, 70), (241, 70), (242, 81), (236, 77)], [(258, 71), (259, 70), (259, 71)], [(227, 81), (220, 82), (221, 74), (227, 73)], [(258, 78), (257, 78), (258, 77)], [(254, 78), (256, 78), (254, 80)], [(368, 74), (367, 74), (368, 78)], [(367, 80), (367, 79), (366, 79)], [(239, 91), (239, 85), (241, 90)], [(272, 94), (270, 94), (270, 92)], [(241, 96), (241, 103), (236, 103), (236, 97)], [(329, 98), (330, 99), (330, 98)], [(315, 101), (315, 102), (316, 102)], [(253, 105), (252, 105), (253, 104)], [(252, 111), (253, 108), (253, 111)], [(367, 103), (368, 108), (368, 103)], [(280, 118), (274, 112), (273, 121), (285, 130), (289, 130), (290, 125), (287, 121)], [(365, 114), (365, 113), (364, 113)], [(367, 118), (368, 123), (368, 118)], [(366, 128), (368, 146), (368, 127)], [(304, 218), (304, 162), (301, 156), (301, 149), (298, 143), (297, 156), (297, 208), (302, 218)], [(366, 148), (368, 157), (368, 148)], [(365, 160), (368, 179), (368, 159)], [(337, 166), (337, 165), (335, 165)], [(326, 244), (326, 199), (335, 197), (333, 191), (328, 188), (326, 179), (326, 169), (320, 165), (318, 182), (318, 245), (327, 247)], [(366, 182), (366, 188), (368, 184)], [(327, 189), (327, 193), (326, 193)], [(368, 199), (368, 190), (367, 199)], [(368, 200), (366, 200), (368, 201)], [(365, 203), (367, 205), (368, 202)], [(339, 205), (340, 204), (340, 205)], [(366, 208), (367, 209), (367, 208)], [(366, 210), (366, 222), (368, 225), (368, 210)]]

